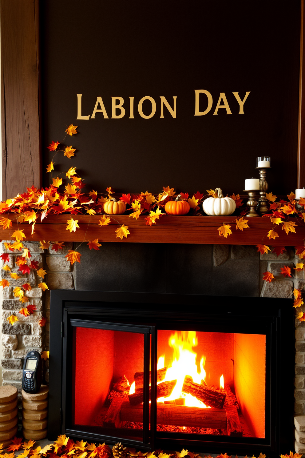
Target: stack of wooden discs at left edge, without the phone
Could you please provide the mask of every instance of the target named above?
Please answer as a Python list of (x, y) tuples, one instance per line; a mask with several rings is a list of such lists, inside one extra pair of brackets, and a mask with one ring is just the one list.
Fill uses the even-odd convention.
[(16, 387), (0, 387), (0, 442), (3, 447), (11, 444), (18, 431), (18, 391)]

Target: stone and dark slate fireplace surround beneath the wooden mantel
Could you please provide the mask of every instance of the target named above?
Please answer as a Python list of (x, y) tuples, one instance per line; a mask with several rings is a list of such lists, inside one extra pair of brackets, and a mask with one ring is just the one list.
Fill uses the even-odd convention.
[[(71, 267), (64, 257), (72, 248), (71, 242), (57, 253), (51, 249), (44, 252), (38, 242), (25, 242), (25, 245), (32, 259), (48, 272), (49, 289), (292, 298), (293, 288), (304, 287), (303, 273), (293, 269), (299, 258), (295, 256), (294, 248), (289, 247), (277, 257), (272, 253), (260, 255), (251, 245), (107, 243), (100, 251), (92, 253), (84, 244), (78, 249), (82, 255), (81, 263)], [(3, 252), (6, 252), (4, 246)], [(10, 253), (12, 272), (17, 270), (15, 256)], [(280, 274), (284, 265), (291, 267), (292, 278)], [(262, 272), (267, 270), (275, 277), (271, 283), (261, 280)], [(6, 272), (2, 270), (1, 274), (5, 278)], [(28, 295), (37, 311), (27, 319), (18, 316), (19, 322), (12, 327), (6, 323), (6, 318), (20, 308), (12, 289), (25, 281), (32, 285)], [(48, 350), (49, 322), (45, 328), (41, 328), (38, 322), (42, 316), (49, 318), (49, 292), (43, 294), (32, 275), (10, 279), (10, 282), (2, 301), (2, 378), (3, 385), (18, 388), (21, 398), (23, 358), (29, 349)], [(298, 320), (295, 321), (295, 349), (294, 447), (297, 453), (305, 453), (305, 322)], [(48, 382), (48, 361), (44, 372)]]

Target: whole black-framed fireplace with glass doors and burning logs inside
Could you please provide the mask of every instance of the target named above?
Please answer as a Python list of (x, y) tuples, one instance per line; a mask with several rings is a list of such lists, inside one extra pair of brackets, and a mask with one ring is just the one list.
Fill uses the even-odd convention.
[(278, 455), (293, 443), (290, 302), (53, 290), (49, 438)]

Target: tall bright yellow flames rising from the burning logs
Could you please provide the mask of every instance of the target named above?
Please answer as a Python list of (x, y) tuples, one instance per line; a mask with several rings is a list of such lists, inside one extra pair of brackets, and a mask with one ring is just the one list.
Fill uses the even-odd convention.
[[(186, 375), (191, 376), (193, 381), (199, 384), (205, 379), (206, 375), (204, 370), (205, 356), (200, 360), (200, 371), (196, 364), (197, 353), (193, 351), (193, 347), (198, 345), (196, 332), (176, 331), (175, 334), (171, 334), (168, 344), (173, 349), (173, 356), (171, 366), (167, 369), (166, 376), (162, 382), (177, 379), (177, 383), (170, 396), (167, 398), (158, 398), (157, 401), (162, 402), (171, 401), (177, 398), (185, 398), (185, 405), (189, 407), (206, 408), (207, 406), (203, 402), (199, 401), (191, 394), (182, 393), (182, 385)], [(164, 361), (164, 356), (161, 356), (157, 364), (158, 369), (165, 367)]]

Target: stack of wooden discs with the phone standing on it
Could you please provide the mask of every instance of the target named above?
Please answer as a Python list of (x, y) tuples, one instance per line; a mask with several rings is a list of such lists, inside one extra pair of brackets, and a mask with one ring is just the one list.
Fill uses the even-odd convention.
[(37, 393), (22, 390), (22, 434), (27, 440), (39, 441), (47, 437), (48, 391), (42, 385)]

